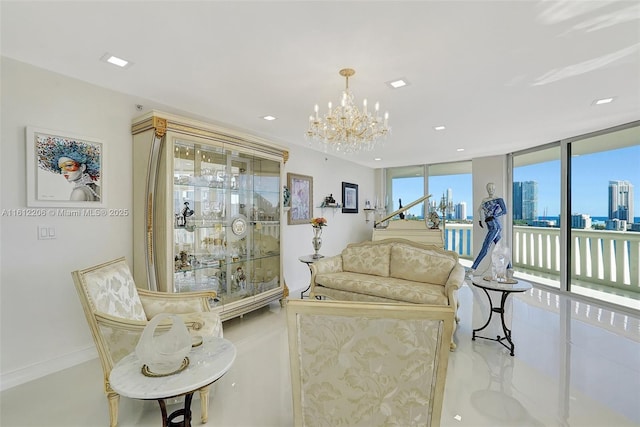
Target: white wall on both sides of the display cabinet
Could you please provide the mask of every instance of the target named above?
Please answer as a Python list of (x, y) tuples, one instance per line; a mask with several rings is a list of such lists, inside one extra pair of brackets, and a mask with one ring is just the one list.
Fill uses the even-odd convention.
[[(6, 389), (96, 356), (71, 271), (119, 256), (132, 260), (132, 220), (9, 216), (26, 207), (25, 127), (67, 131), (105, 144), (103, 191), (108, 208), (131, 209), (131, 120), (145, 109), (170, 106), (70, 79), (11, 59), (1, 61), (0, 143), (0, 387)], [(280, 142), (280, 144), (282, 144)], [(373, 170), (304, 147), (290, 146), (285, 172), (314, 178), (314, 205), (342, 181), (360, 186), (360, 207), (373, 195)], [(326, 159), (326, 160), (325, 160)], [(329, 226), (323, 254), (370, 237), (364, 213), (316, 208)], [(57, 238), (38, 240), (37, 226), (54, 227)], [(311, 226), (283, 227), (285, 280), (298, 296), (309, 283), (301, 255), (313, 252)], [(295, 292), (297, 291), (297, 293)]]

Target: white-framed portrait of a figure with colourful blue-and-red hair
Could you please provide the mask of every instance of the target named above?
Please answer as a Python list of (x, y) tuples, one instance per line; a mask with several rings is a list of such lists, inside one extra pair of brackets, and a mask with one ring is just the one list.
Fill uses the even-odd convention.
[(27, 206), (105, 206), (100, 140), (27, 127), (26, 143)]

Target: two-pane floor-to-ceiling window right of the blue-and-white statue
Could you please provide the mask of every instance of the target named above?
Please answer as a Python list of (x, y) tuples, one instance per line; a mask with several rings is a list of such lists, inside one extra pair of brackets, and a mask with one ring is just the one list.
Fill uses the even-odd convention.
[(516, 270), (538, 283), (639, 309), (638, 123), (512, 158)]

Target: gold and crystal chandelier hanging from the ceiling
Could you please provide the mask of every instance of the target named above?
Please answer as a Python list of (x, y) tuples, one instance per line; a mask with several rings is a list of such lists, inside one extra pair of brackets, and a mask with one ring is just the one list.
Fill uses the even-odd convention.
[(346, 88), (342, 92), (339, 105), (333, 107), (329, 102), (327, 113), (320, 115), (318, 104), (314, 114), (309, 116), (307, 138), (324, 146), (325, 151), (331, 148), (341, 153), (372, 150), (391, 132), (389, 113), (380, 117), (380, 104), (376, 102), (374, 111), (367, 110), (367, 100), (362, 102), (362, 111), (353, 102), (353, 93), (349, 90), (349, 77), (355, 70), (345, 68), (340, 75), (346, 79)]

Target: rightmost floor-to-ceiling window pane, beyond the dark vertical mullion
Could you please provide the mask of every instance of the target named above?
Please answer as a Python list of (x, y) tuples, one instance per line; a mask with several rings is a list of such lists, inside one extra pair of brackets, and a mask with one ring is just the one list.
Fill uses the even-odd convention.
[(571, 171), (569, 289), (638, 308), (640, 127), (567, 143)]

